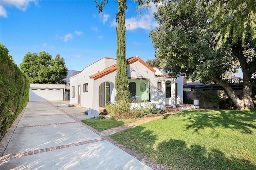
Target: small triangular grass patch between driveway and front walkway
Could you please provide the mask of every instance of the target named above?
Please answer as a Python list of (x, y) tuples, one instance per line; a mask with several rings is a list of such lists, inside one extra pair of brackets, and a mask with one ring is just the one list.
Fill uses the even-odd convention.
[(94, 129), (97, 129), (98, 131), (104, 131), (106, 129), (111, 129), (113, 127), (121, 126), (126, 123), (131, 123), (138, 120), (140, 119), (116, 120), (112, 118), (107, 118), (107, 119), (86, 119), (86, 120), (82, 120), (82, 122), (93, 127)]

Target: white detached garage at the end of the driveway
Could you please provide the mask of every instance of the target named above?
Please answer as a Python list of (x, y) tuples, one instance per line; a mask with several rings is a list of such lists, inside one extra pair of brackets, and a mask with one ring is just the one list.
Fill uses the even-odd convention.
[(65, 84), (30, 84), (29, 101), (64, 100)]

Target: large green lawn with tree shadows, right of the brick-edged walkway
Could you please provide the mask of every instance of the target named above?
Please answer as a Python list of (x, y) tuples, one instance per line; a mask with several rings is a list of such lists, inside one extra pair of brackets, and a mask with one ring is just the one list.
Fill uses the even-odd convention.
[(182, 111), (110, 137), (164, 168), (256, 170), (256, 111)]

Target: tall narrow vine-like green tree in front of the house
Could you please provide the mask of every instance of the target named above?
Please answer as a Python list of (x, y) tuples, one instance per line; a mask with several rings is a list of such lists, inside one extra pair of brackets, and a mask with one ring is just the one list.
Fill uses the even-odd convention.
[(115, 78), (116, 101), (126, 100), (130, 97), (127, 77), (127, 62), (126, 62), (126, 46), (125, 46), (125, 10), (127, 9), (126, 0), (118, 0), (118, 13), (116, 19), (118, 26), (116, 27), (117, 35), (117, 50), (116, 64), (117, 73)]

